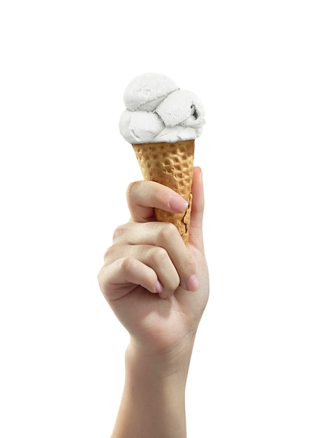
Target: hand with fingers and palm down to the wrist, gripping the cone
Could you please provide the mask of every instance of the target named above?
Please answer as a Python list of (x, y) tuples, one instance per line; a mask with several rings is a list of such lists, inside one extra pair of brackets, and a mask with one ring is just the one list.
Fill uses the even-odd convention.
[(103, 295), (139, 351), (151, 355), (193, 345), (207, 304), (209, 276), (202, 241), (202, 173), (194, 169), (188, 246), (154, 208), (184, 211), (183, 199), (152, 181), (127, 192), (131, 220), (118, 227), (99, 273)]

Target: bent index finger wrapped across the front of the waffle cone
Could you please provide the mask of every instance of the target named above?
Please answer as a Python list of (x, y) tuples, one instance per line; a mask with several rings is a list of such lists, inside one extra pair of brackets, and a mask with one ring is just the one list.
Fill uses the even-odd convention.
[(188, 208), (188, 202), (174, 190), (154, 181), (131, 183), (126, 191), (131, 219), (147, 222), (154, 219), (154, 208), (180, 213)]

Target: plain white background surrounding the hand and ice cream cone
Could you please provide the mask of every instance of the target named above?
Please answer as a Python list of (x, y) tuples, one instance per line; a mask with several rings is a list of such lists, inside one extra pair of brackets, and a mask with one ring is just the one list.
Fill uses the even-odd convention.
[(110, 436), (128, 337), (97, 273), (141, 178), (122, 94), (158, 71), (207, 111), (188, 438), (327, 438), (325, 3), (1, 2), (1, 437)]

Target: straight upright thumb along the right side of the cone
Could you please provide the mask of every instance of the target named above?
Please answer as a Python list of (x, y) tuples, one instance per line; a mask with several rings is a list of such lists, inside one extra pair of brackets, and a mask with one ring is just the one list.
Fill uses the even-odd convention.
[(203, 251), (202, 218), (204, 215), (204, 189), (202, 182), (202, 169), (200, 169), (200, 167), (194, 167), (193, 169), (193, 185), (191, 187), (191, 192), (193, 194), (193, 204), (191, 206), (189, 243)]

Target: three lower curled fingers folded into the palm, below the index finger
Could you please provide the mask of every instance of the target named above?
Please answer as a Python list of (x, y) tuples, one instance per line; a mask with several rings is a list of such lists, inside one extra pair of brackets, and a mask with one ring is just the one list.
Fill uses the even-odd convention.
[(129, 282), (160, 293), (161, 298), (172, 296), (179, 285), (198, 289), (195, 263), (174, 225), (128, 222), (115, 230), (113, 243), (100, 276), (105, 295), (130, 292)]

